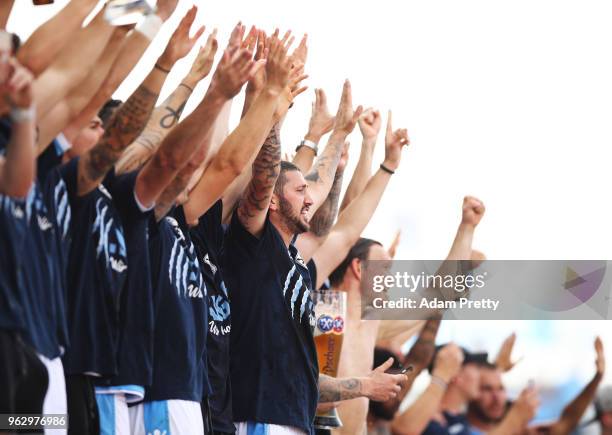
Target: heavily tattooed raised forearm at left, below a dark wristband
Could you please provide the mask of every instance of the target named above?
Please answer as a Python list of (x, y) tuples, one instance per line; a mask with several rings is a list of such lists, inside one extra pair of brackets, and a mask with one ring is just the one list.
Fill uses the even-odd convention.
[(158, 93), (142, 84), (121, 105), (111, 119), (104, 136), (79, 162), (79, 195), (100, 183), (121, 154), (140, 134), (157, 101)]

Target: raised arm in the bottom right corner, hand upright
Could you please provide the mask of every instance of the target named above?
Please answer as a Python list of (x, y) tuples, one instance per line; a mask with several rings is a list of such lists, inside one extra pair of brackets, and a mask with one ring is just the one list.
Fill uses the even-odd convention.
[(597, 387), (603, 379), (606, 360), (603, 349), (603, 342), (599, 337), (595, 339), (595, 376), (591, 379), (586, 387), (580, 392), (574, 400), (572, 400), (561, 412), (561, 418), (559, 421), (554, 423), (550, 428), (551, 435), (569, 435), (576, 429), (582, 415), (593, 402), (595, 394), (597, 393)]

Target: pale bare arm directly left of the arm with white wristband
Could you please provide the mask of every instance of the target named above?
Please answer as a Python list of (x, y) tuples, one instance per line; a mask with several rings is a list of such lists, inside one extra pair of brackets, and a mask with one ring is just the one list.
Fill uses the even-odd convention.
[(104, 10), (80, 29), (34, 82), (38, 116), (41, 119), (89, 74), (113, 33)]

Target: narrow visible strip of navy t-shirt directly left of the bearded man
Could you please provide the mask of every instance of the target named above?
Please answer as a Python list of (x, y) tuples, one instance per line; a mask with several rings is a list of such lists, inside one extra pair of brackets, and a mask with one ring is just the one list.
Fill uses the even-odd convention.
[(208, 293), (208, 398), (215, 431), (233, 433), (232, 391), (229, 378), (230, 299), (219, 258), (223, 248), (223, 202), (217, 201), (189, 232), (198, 253)]

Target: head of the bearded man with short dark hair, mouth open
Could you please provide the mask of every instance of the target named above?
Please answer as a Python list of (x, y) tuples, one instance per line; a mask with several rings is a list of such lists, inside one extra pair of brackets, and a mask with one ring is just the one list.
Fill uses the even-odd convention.
[(270, 203), (270, 221), (291, 237), (310, 229), (308, 211), (313, 204), (308, 183), (300, 171), (286, 171), (282, 195), (274, 193)]

